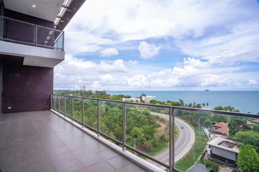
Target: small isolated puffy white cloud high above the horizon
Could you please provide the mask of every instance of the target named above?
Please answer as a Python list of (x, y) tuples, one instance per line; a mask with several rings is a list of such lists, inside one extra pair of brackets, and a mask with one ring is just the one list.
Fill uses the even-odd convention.
[(160, 46), (155, 44), (149, 44), (146, 41), (141, 41), (139, 45), (139, 51), (142, 59), (150, 59), (156, 56), (159, 53)]

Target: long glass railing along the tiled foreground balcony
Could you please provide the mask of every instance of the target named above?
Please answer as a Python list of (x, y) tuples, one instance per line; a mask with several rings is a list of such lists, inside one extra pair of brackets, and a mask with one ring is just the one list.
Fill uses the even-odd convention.
[(257, 114), (55, 94), (51, 97), (51, 108), (62, 116), (169, 171), (186, 171), (206, 161), (235, 168), (242, 144), (259, 152)]

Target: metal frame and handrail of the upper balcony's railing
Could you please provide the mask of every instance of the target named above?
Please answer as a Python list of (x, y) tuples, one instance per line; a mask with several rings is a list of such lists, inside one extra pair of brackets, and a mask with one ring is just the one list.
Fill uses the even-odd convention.
[[(29, 25), (32, 25), (35, 27), (35, 33), (34, 33), (34, 43), (31, 43), (31, 42), (25, 42), (25, 41), (19, 41), (19, 40), (14, 40), (14, 39), (7, 39), (7, 38), (4, 38), (3, 35), (0, 35), (0, 38), (3, 39), (3, 40), (8, 40), (8, 41), (14, 41), (14, 42), (19, 42), (19, 43), (24, 43), (24, 44), (31, 44), (32, 46), (43, 46), (43, 47), (48, 47), (48, 48), (52, 48), (52, 49), (61, 49), (62, 51), (64, 51), (64, 31), (62, 30), (58, 30), (58, 29), (54, 29), (54, 28), (50, 28), (50, 27), (46, 27), (46, 26), (42, 26), (42, 25), (36, 25), (36, 24), (32, 24), (32, 23), (29, 23), (29, 22), (25, 22), (25, 21), (21, 21), (21, 20), (17, 20), (17, 19), (13, 19), (13, 18), (9, 18), (9, 17), (5, 17), (5, 16), (0, 16), (0, 19), (3, 18), (3, 19), (8, 19), (8, 20), (13, 20), (13, 21), (17, 21), (17, 22), (20, 22), (20, 23), (25, 23), (25, 24), (29, 24)], [(4, 22), (1, 23), (2, 25), (4, 25)], [(55, 39), (54, 43), (53, 43), (53, 46), (48, 46), (48, 45), (42, 45), (42, 44), (37, 44), (37, 28), (46, 28), (46, 29), (49, 29), (49, 30), (52, 30), (52, 31), (58, 31), (60, 32), (59, 36)], [(3, 28), (4, 29), (4, 28)], [(59, 48), (59, 47), (54, 47), (55, 43), (61, 38), (61, 35), (63, 37), (63, 40), (62, 40), (62, 48)]]

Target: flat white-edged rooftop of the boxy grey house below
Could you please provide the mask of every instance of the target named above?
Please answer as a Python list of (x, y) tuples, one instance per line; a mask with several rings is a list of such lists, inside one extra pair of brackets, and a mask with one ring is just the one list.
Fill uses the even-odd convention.
[(236, 152), (236, 153), (239, 153), (239, 148), (241, 146), (240, 142), (225, 139), (222, 137), (214, 138), (214, 139), (210, 140), (207, 144), (211, 145), (211, 146), (219, 147), (222, 149), (226, 149), (231, 152)]

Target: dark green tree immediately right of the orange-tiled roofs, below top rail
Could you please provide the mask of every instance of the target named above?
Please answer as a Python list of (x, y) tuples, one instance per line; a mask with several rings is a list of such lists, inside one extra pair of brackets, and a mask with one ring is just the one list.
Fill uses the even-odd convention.
[(246, 120), (233, 117), (228, 125), (229, 127), (229, 134), (231, 137), (235, 135), (235, 133), (239, 131), (246, 131), (249, 130), (249, 126), (247, 125)]

